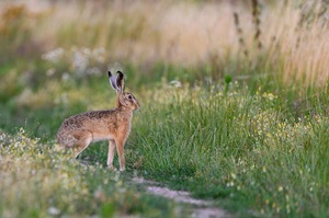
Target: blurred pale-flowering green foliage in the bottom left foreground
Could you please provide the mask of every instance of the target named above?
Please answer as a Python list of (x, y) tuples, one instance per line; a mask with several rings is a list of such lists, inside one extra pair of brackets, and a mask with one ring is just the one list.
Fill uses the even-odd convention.
[[(0, 134), (1, 217), (95, 216), (171, 213), (174, 205), (146, 196), (102, 164), (81, 164), (53, 142), (30, 139), (23, 129)], [(175, 217), (175, 214), (172, 214)]]

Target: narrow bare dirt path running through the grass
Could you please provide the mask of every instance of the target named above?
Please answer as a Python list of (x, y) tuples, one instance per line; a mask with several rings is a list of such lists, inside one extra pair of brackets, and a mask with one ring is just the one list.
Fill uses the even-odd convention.
[(213, 206), (211, 200), (196, 199), (191, 197), (189, 192), (173, 191), (167, 187), (159, 186), (158, 183), (154, 181), (144, 180), (143, 177), (134, 177), (134, 182), (143, 184), (146, 191), (150, 194), (173, 199), (178, 203), (184, 203), (192, 205), (192, 216), (193, 218), (230, 218), (227, 211)]

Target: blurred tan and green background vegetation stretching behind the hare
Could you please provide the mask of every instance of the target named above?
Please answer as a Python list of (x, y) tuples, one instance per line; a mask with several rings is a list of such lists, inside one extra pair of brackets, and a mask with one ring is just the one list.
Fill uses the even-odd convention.
[[(24, 107), (83, 104), (61, 87), (104, 90), (99, 79), (115, 68), (133, 90), (265, 78), (274, 92), (292, 87), (300, 107), (309, 89), (327, 85), (327, 25), (326, 1), (1, 1), (0, 100), (22, 125)], [(2, 126), (16, 125), (5, 117)]]

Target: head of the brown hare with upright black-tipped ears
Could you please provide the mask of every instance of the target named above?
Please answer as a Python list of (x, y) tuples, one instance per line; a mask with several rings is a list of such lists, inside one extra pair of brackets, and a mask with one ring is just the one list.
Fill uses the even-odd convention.
[(136, 100), (136, 97), (132, 93), (124, 91), (125, 89), (124, 74), (121, 71), (117, 71), (116, 74), (117, 76), (115, 77), (109, 71), (110, 83), (112, 88), (116, 91), (117, 106), (118, 107), (123, 106), (132, 111), (138, 110), (140, 105)]

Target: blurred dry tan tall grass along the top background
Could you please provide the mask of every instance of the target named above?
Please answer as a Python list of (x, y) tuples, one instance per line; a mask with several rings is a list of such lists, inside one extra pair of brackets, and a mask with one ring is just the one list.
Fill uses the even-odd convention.
[[(326, 64), (328, 28), (324, 13), (306, 13), (294, 2), (263, 2), (262, 5), (258, 1), (250, 2), (58, 1), (47, 2), (43, 10), (33, 13), (29, 11), (35, 4), (22, 3), (19, 8), (7, 7), (2, 16), (20, 9), (26, 11), (19, 16), (24, 22), (15, 26), (4, 19), (1, 26), (14, 25), (14, 39), (20, 35), (14, 33), (27, 33), (29, 37), (24, 38), (31, 38), (30, 44), (33, 42), (32, 46), (37, 45), (44, 51), (57, 47), (68, 51), (73, 46), (101, 47), (106, 51), (106, 62), (208, 66), (212, 77), (217, 79), (217, 74), (240, 76), (246, 66), (241, 69), (235, 65), (250, 62), (249, 71), (257, 67), (260, 73), (283, 77), (287, 83), (324, 85), (329, 73)], [(243, 35), (236, 33), (234, 14), (240, 18)], [(33, 25), (35, 16), (37, 25)], [(248, 50), (250, 56), (247, 60), (241, 55), (241, 38), (246, 46), (243, 53)]]

